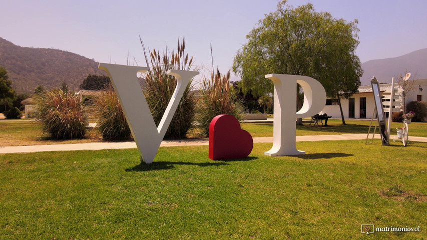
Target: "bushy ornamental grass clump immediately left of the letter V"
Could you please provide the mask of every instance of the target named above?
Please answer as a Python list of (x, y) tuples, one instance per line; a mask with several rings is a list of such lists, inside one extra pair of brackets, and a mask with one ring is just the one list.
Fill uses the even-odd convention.
[(105, 140), (126, 140), (131, 138), (131, 130), (119, 98), (113, 88), (103, 90), (101, 95), (93, 98), (96, 130)]

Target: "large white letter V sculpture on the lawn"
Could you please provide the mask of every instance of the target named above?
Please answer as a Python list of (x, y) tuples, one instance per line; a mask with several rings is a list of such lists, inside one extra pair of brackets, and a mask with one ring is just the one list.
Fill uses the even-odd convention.
[(199, 72), (175, 69), (167, 72), (169, 75), (176, 77), (177, 85), (159, 126), (156, 127), (137, 78), (137, 72), (146, 72), (148, 67), (100, 63), (99, 68), (107, 71), (110, 76), (123, 112), (126, 115), (126, 120), (131, 128), (132, 136), (141, 153), (141, 159), (145, 163), (153, 162), (185, 88)]

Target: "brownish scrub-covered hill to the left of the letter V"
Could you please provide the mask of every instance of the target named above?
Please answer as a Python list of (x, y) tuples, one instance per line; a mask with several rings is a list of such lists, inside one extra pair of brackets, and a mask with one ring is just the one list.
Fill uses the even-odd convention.
[(106, 75), (98, 62), (76, 53), (50, 48), (22, 47), (0, 37), (0, 65), (18, 93), (36, 86), (57, 87), (63, 81), (77, 90), (88, 74)]

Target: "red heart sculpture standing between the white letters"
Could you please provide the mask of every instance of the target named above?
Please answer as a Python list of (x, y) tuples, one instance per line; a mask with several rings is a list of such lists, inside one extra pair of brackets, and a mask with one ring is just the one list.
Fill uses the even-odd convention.
[(222, 114), (212, 119), (209, 124), (209, 158), (245, 158), (252, 148), (251, 134), (240, 128), (236, 117)]

